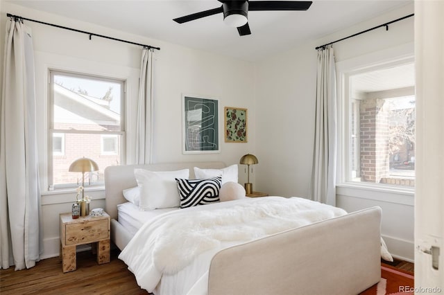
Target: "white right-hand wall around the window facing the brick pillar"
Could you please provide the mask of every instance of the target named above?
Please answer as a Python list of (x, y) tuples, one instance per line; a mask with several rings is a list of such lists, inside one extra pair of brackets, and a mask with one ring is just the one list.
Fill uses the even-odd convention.
[[(316, 98), (316, 46), (413, 12), (404, 6), (357, 26), (311, 40), (257, 63), (255, 188), (271, 195), (309, 195)], [(413, 42), (413, 17), (334, 44), (336, 62)], [(273, 151), (273, 152), (270, 152)], [(383, 209), (382, 234), (395, 256), (413, 260), (413, 195), (338, 189), (337, 205), (347, 211)]]

